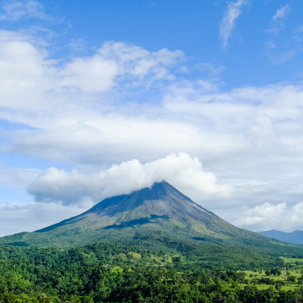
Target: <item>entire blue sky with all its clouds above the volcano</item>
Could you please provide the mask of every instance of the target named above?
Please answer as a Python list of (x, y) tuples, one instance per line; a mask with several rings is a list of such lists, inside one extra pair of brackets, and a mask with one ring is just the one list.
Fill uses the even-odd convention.
[(303, 229), (301, 1), (0, 7), (0, 235), (162, 179), (239, 227)]

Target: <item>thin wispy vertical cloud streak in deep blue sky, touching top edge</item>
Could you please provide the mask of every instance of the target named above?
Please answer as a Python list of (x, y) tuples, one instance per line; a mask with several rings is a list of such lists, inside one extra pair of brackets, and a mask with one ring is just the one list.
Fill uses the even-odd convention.
[(226, 47), (228, 38), (231, 36), (231, 31), (235, 27), (235, 20), (241, 14), (241, 6), (247, 4), (245, 0), (238, 0), (237, 2), (230, 2), (224, 17), (221, 20), (220, 37), (223, 39), (223, 47)]

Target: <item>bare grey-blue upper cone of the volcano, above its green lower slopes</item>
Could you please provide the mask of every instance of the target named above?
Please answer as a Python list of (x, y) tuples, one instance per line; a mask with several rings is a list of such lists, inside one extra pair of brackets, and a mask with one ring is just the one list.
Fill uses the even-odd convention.
[(214, 213), (191, 201), (168, 182), (162, 181), (154, 183), (151, 188), (133, 191), (129, 195), (106, 198), (81, 215), (36, 232), (50, 231), (63, 225), (74, 227), (96, 225), (104, 229), (121, 229), (148, 223), (164, 224), (172, 219), (185, 225), (196, 220), (205, 224), (207, 228), (221, 220)]

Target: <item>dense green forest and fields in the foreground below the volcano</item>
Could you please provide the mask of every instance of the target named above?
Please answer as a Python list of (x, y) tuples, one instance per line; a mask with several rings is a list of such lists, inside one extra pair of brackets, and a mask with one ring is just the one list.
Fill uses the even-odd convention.
[[(229, 264), (228, 255), (234, 258), (235, 252), (225, 249), (221, 261), (217, 257), (211, 264), (174, 249), (151, 251), (117, 243), (80, 248), (2, 245), (0, 302), (303, 301), (303, 259), (285, 259), (285, 281), (283, 259), (261, 265), (258, 258), (245, 263), (241, 257), (241, 263)], [(240, 257), (240, 248), (237, 253)]]

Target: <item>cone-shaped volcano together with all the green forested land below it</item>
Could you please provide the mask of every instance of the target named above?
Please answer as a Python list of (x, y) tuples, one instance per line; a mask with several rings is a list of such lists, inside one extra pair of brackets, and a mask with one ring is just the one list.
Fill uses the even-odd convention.
[(0, 238), (0, 303), (301, 302), (302, 258), (163, 181)]

